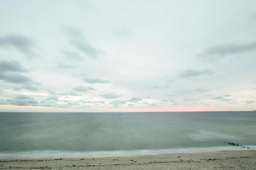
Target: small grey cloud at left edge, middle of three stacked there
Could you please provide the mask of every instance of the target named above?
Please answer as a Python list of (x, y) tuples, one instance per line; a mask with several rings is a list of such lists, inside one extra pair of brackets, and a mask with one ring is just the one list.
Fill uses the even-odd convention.
[(2, 60), (0, 61), (0, 72), (26, 72), (28, 69), (23, 67), (20, 62), (16, 60), (6, 61)]

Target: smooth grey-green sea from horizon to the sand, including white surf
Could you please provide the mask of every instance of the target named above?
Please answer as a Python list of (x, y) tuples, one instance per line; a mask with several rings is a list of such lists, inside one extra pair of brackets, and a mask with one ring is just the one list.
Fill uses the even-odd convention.
[(256, 112), (0, 113), (0, 158), (256, 149)]

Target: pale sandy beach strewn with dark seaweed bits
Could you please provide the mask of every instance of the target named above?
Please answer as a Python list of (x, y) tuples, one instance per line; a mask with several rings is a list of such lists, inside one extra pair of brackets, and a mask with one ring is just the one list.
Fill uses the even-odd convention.
[(1, 159), (0, 169), (256, 169), (256, 151), (75, 159)]

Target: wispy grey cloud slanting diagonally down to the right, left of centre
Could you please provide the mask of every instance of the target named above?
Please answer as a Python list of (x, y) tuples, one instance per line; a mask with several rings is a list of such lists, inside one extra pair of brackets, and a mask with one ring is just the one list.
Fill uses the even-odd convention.
[(91, 59), (95, 60), (99, 58), (99, 55), (102, 53), (101, 50), (96, 49), (87, 41), (80, 30), (65, 27), (65, 29), (70, 33), (70, 45), (79, 50), (79, 52), (89, 56)]

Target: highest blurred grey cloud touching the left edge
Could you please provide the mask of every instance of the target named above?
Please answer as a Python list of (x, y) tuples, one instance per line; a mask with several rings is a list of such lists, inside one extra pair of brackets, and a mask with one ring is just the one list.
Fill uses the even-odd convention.
[(29, 56), (34, 54), (34, 41), (22, 35), (0, 36), (0, 47), (14, 47)]

